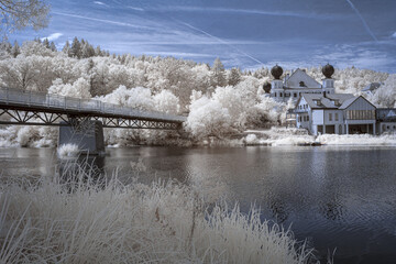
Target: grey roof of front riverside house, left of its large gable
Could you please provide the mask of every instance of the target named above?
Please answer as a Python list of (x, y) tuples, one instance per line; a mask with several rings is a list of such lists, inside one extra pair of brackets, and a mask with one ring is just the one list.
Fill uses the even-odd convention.
[[(322, 94), (302, 94), (301, 97), (304, 97), (311, 109), (341, 109), (346, 101), (351, 100), (353, 102), (356, 99), (356, 97), (351, 94), (327, 94), (326, 97), (323, 97)], [(297, 101), (297, 105), (300, 99)], [(338, 102), (338, 105), (336, 105), (336, 102)]]

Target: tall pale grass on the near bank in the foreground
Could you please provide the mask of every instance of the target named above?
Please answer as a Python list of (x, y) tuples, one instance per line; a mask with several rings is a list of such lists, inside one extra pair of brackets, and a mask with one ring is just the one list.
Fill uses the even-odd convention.
[[(0, 187), (0, 263), (307, 263), (288, 230), (238, 206), (210, 212), (175, 182), (84, 173)], [(70, 175), (69, 175), (70, 176)]]

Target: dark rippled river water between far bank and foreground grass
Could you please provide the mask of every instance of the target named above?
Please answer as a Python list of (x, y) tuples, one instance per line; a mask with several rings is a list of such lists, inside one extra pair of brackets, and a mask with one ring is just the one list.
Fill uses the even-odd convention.
[[(238, 200), (263, 218), (292, 224), (334, 263), (396, 263), (396, 147), (108, 148), (97, 165), (150, 183), (174, 177)], [(143, 158), (145, 172), (132, 173)], [(51, 148), (0, 148), (2, 177), (52, 175)], [(133, 165), (133, 164), (132, 164)]]

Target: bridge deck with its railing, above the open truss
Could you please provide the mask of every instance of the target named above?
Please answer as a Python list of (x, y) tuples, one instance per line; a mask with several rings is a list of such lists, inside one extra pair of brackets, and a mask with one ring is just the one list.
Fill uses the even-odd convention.
[(140, 111), (94, 99), (77, 99), (9, 88), (0, 88), (0, 109), (179, 124), (186, 121), (186, 118), (182, 116), (156, 111)]

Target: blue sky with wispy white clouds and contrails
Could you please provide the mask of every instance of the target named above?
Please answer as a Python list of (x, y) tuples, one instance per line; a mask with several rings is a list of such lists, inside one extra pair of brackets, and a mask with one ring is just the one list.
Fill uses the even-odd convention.
[(110, 53), (174, 56), (227, 68), (330, 63), (396, 73), (396, 0), (50, 0), (48, 28), (9, 36), (75, 36)]

